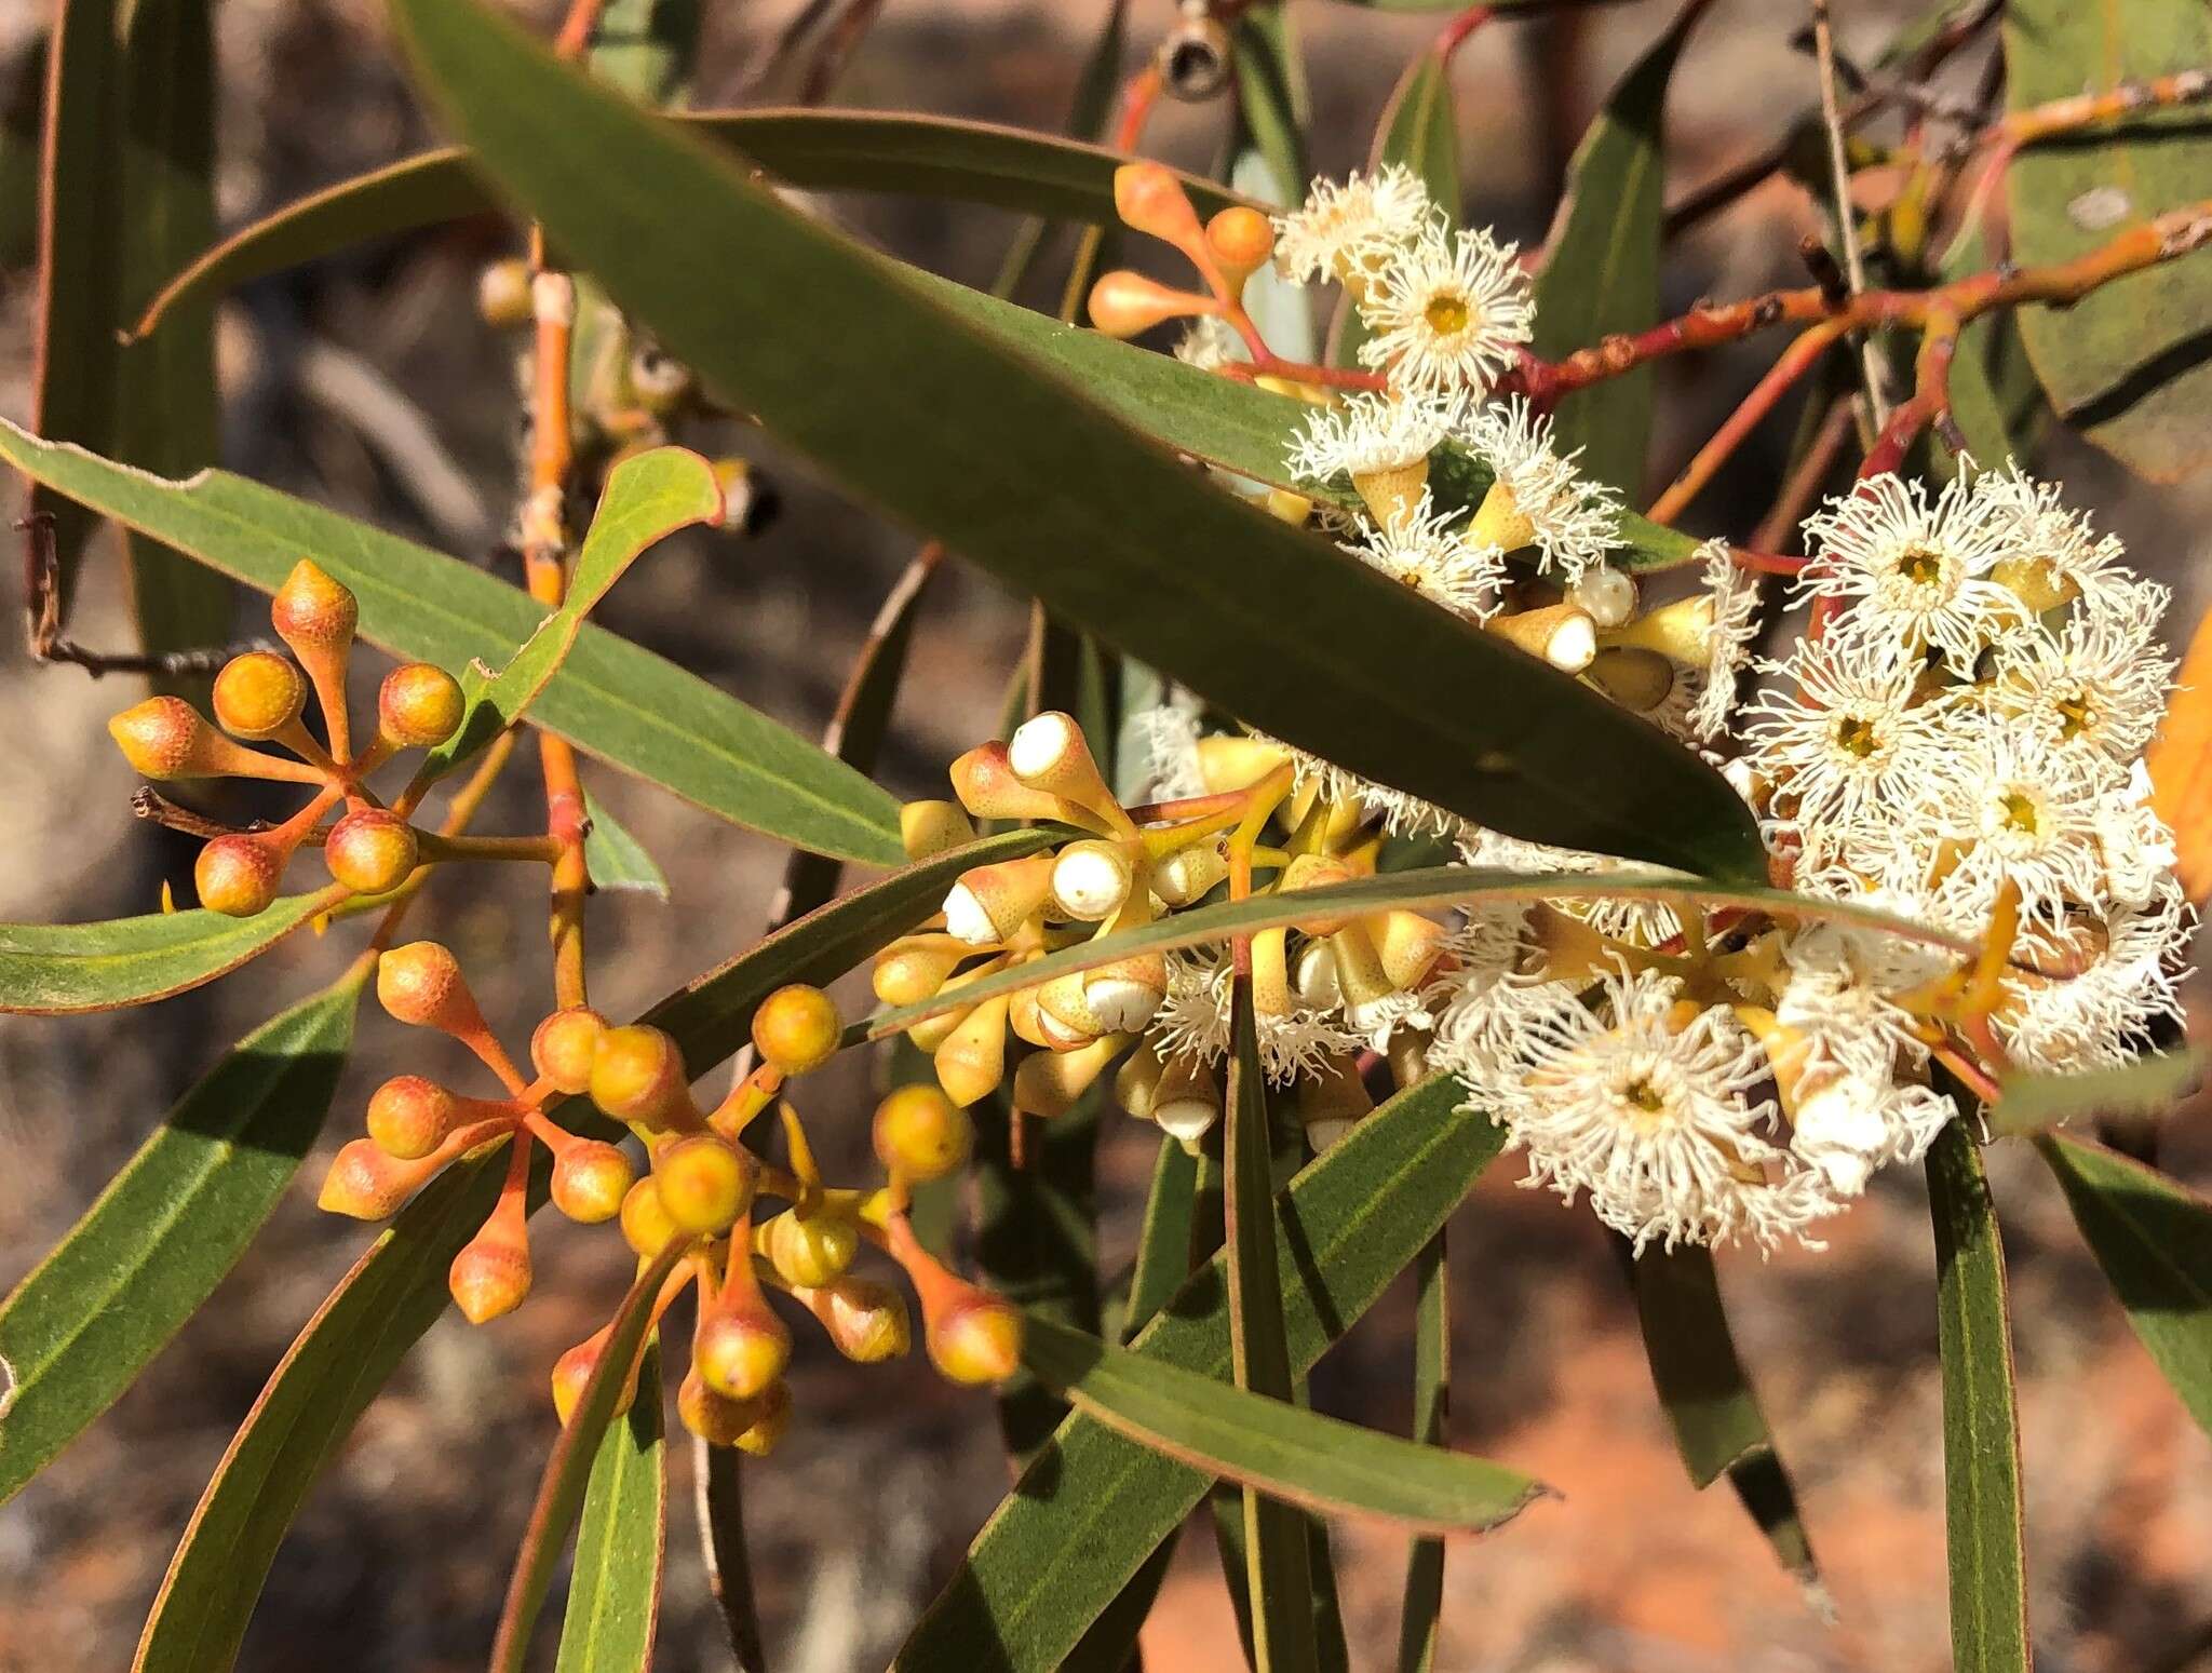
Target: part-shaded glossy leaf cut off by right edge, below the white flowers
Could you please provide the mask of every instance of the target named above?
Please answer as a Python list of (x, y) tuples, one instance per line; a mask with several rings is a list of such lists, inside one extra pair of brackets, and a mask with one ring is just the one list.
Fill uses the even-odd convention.
[(2128, 1326), (2212, 1434), (2212, 1202), (2088, 1140), (2051, 1133), (2035, 1149)]

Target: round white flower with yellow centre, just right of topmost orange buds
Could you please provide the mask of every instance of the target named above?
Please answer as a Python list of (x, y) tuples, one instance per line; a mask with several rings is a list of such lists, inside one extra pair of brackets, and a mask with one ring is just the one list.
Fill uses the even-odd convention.
[(1517, 246), (1431, 228), (1383, 261), (1358, 299), (1360, 363), (1400, 389), (1489, 389), (1528, 341), (1535, 303)]

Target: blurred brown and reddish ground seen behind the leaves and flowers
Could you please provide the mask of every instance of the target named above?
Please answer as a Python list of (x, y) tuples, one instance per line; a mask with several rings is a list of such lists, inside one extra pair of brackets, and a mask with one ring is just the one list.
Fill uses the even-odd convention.
[[(546, 7), (535, 7), (544, 13)], [(708, 4), (697, 104), (739, 86), (794, 4)], [(1091, 0), (889, 0), (838, 100), (916, 106), (1057, 128), (1097, 22)], [(1301, 0), (1314, 75), (1314, 159), (1343, 173), (1367, 150), (1405, 58), (1436, 27)], [(1840, 0), (1847, 51), (1871, 51), (1902, 7)], [(0, 60), (46, 15), (0, 0)], [(1486, 29), (1460, 55), (1462, 173), (1471, 215), (1540, 239), (1557, 173), (1617, 71), (1663, 24), (1666, 7), (1621, 4), (1548, 24)], [(1133, 40), (1172, 18), (1135, 7)], [(1672, 188), (1703, 181), (1776, 137), (1814, 95), (1790, 49), (1803, 13), (1725, 0), (1677, 77)], [(303, 190), (434, 139), (392, 66), (374, 0), (228, 0), (223, 53), (223, 217), (237, 224)], [(774, 89), (772, 89), (774, 93)], [(1150, 144), (1206, 166), (1225, 108), (1164, 106)], [(823, 210), (896, 252), (984, 283), (1006, 217), (918, 201), (841, 197)], [(1668, 301), (1734, 297), (1792, 281), (1812, 226), (1796, 188), (1761, 190), (1674, 248)], [(380, 243), (276, 274), (223, 321), (226, 463), (462, 555), (482, 555), (511, 485), (509, 345), (471, 308), (478, 235)], [(2205, 259), (2205, 257), (2199, 257)], [(22, 416), (31, 361), (29, 279), (0, 292), (0, 409)], [(1652, 478), (1670, 476), (1761, 370), (1759, 354), (1670, 363)], [(854, 392), (865, 398), (865, 392)], [(1761, 436), (1694, 509), (1703, 531), (1745, 529), (1778, 474), (1781, 427)], [(752, 704), (818, 728), (867, 617), (911, 542), (763, 460), (783, 518), (748, 544), (679, 540), (617, 591), (604, 620)], [(2205, 491), (2148, 489), (2059, 440), (2051, 467), (2101, 507), (2139, 562), (2177, 582), (2177, 622), (2201, 609), (2192, 555)], [(104, 549), (80, 637), (126, 633), (117, 560)], [(241, 604), (243, 611), (243, 604)], [(243, 617), (241, 617), (243, 622)], [(989, 735), (1022, 615), (991, 584), (945, 573), (916, 644), (896, 746), (883, 777), (905, 794)], [(374, 673), (374, 668), (372, 668)], [(150, 910), (161, 879), (184, 883), (190, 845), (126, 810), (133, 777), (102, 719), (128, 682), (31, 668), (0, 644), (0, 918), (97, 918)], [(533, 819), (529, 772), (511, 775), (484, 830)], [(779, 876), (763, 841), (712, 823), (604, 770), (595, 792), (666, 865), (677, 907), (599, 896), (591, 912), (595, 1000), (628, 1014), (743, 947)], [(471, 876), (442, 887), (425, 927), (449, 938), (487, 1009), (520, 1045), (546, 983), (542, 898)], [(347, 941), (343, 934), (334, 941)], [(122, 1164), (159, 1111), (221, 1047), (307, 991), (343, 952), (285, 943), (252, 971), (168, 1007), (117, 1018), (0, 1018), (0, 1284), (13, 1284)], [(128, 1664), (137, 1624), (179, 1529), (268, 1368), (367, 1241), (314, 1210), (330, 1151), (358, 1131), (363, 1100), (394, 1067), (440, 1060), (374, 1007), (323, 1146), (252, 1255), (117, 1407), (0, 1509), (0, 1673), (104, 1673)], [(858, 1069), (810, 1087), (816, 1126), (845, 1162), (865, 1151)], [(843, 1111), (843, 1120), (841, 1120)], [(1152, 1137), (1106, 1129), (1108, 1266), (1126, 1259)], [(2170, 1168), (2212, 1182), (2197, 1113), (2166, 1133)], [(2033, 1624), (2051, 1673), (2179, 1673), (2212, 1666), (2212, 1445), (2159, 1383), (2073, 1235), (2057, 1191), (2017, 1149), (1991, 1171), (2013, 1259), (2024, 1381)], [(1942, 1445), (1927, 1204), (1909, 1173), (1880, 1180), (1825, 1255), (1723, 1259), (1739, 1345), (1796, 1472), (1836, 1602), (1823, 1624), (1725, 1489), (1694, 1494), (1650, 1394), (1635, 1323), (1597, 1224), (1553, 1197), (1517, 1193), (1500, 1166), (1453, 1228), (1458, 1443), (1557, 1485), (1531, 1509), (1451, 1553), (1449, 1669), (1517, 1673), (1814, 1673), (1949, 1666)], [(254, 1673), (438, 1673), (478, 1666), (509, 1558), (553, 1432), (544, 1374), (619, 1295), (611, 1237), (538, 1233), (538, 1295), (515, 1317), (469, 1330), (449, 1314), (422, 1341), (319, 1485), (270, 1578), (241, 1666)], [(1405, 1295), (1394, 1295), (1325, 1363), (1329, 1410), (1405, 1423)], [(1004, 1489), (984, 1396), (951, 1392), (922, 1365), (856, 1372), (801, 1345), (801, 1421), (776, 1458), (748, 1472), (754, 1562), (772, 1664), (790, 1673), (880, 1666)], [(675, 1449), (668, 1600), (659, 1666), (728, 1666)], [(1402, 1547), (1338, 1529), (1345, 1609), (1360, 1669), (1394, 1660)], [(1194, 1527), (1146, 1633), (1157, 1673), (1237, 1664), (1212, 1538)]]

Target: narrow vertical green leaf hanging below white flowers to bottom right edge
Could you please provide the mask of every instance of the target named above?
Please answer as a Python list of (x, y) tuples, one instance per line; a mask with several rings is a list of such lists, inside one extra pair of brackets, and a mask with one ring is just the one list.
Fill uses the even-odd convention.
[(2028, 1591), (2020, 1545), (2020, 1412), (2004, 1248), (1989, 1175), (1962, 1122), (1927, 1160), (1942, 1348), (1944, 1529), (1951, 1655), (1960, 1673), (2026, 1673)]

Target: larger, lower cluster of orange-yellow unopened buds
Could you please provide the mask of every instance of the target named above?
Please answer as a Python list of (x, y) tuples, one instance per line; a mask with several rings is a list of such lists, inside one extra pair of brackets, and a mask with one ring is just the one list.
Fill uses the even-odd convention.
[[(323, 1182), (321, 1206), (383, 1219), (447, 1164), (507, 1142), (507, 1180), (491, 1215), (453, 1257), (449, 1288), (471, 1323), (522, 1303), (531, 1288), (529, 1188), (533, 1146), (553, 1160), (553, 1206), (580, 1224), (619, 1224), (639, 1268), (684, 1246), (659, 1317), (697, 1288), (692, 1363), (677, 1392), (684, 1423), (712, 1445), (765, 1454), (790, 1421), (785, 1368), (792, 1332), (770, 1295), (812, 1314), (856, 1363), (909, 1348), (902, 1292), (856, 1272), (865, 1246), (896, 1261), (922, 1306), (931, 1363), (960, 1383), (991, 1383), (1020, 1363), (1022, 1317), (929, 1255), (907, 1226), (916, 1184), (960, 1168), (973, 1142), (969, 1118), (936, 1087), (902, 1087), (876, 1109), (874, 1144), (885, 1184), (832, 1188), (814, 1164), (787, 1082), (823, 1067), (843, 1042), (834, 1000), (816, 987), (770, 994), (752, 1018), (759, 1067), (712, 1111), (690, 1091), (672, 1036), (646, 1022), (611, 1025), (588, 1007), (546, 1016), (531, 1033), (524, 1078), (484, 1022), (453, 954), (418, 941), (383, 954), (376, 996), (396, 1020), (460, 1040), (498, 1078), (504, 1098), (469, 1098), (420, 1076), (396, 1076), (369, 1098), (367, 1135), (345, 1144)], [(588, 1095), (641, 1146), (639, 1173), (615, 1142), (573, 1133), (553, 1104)], [(774, 1109), (785, 1164), (748, 1146), (745, 1131)], [(765, 1213), (781, 1199), (776, 1213)], [(597, 1365), (611, 1328), (577, 1343), (553, 1368), (562, 1421)], [(628, 1399), (628, 1394), (624, 1394)]]

